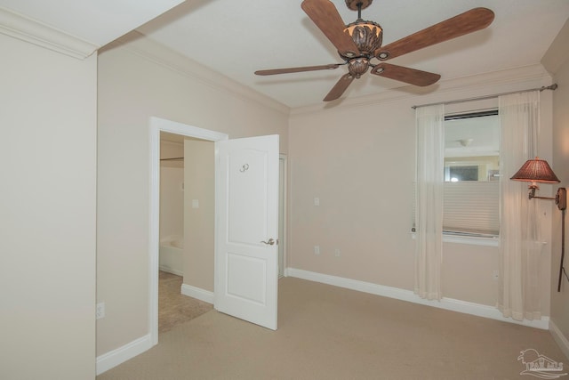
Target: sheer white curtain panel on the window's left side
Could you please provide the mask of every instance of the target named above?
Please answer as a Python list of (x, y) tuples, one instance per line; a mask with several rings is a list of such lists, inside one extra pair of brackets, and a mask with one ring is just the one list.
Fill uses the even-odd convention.
[(445, 166), (445, 106), (416, 109), (417, 198), (414, 290), (440, 300), (443, 258), (443, 181)]

